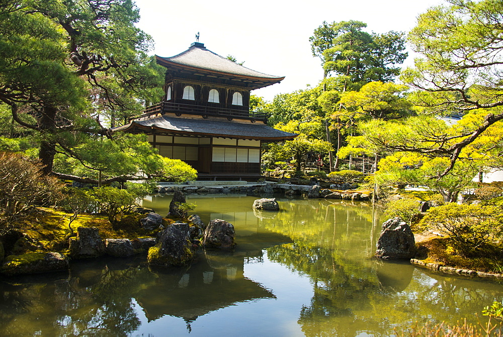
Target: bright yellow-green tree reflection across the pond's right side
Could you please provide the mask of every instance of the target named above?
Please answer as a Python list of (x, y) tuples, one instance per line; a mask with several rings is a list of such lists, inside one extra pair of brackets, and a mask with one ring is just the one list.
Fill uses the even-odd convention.
[(297, 200), (282, 206), (281, 217), (260, 224), (294, 240), (268, 248), (269, 259), (312, 281), (314, 295), (298, 320), (306, 335), (389, 335), (396, 325), (455, 323), (453, 317), (465, 316), (476, 322), (473, 313), (503, 291), (488, 282), (373, 259), (380, 221), (371, 208), (323, 202), (313, 207)]

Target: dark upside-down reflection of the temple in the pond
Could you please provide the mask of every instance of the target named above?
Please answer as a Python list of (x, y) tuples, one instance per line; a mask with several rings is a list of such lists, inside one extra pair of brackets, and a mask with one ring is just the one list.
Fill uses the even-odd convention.
[(292, 242), (285, 235), (259, 228), (252, 210), (200, 214), (203, 219), (238, 222), (235, 249), (206, 250), (186, 269), (155, 270), (156, 278), (135, 294), (149, 321), (165, 315), (190, 323), (209, 312), (240, 302), (276, 298), (273, 292), (244, 275), (244, 265), (261, 261), (264, 249)]

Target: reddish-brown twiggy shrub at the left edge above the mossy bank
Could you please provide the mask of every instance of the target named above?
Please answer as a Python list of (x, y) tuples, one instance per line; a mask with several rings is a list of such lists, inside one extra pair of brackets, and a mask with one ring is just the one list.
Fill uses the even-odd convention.
[(0, 152), (0, 212), (12, 221), (35, 206), (52, 205), (61, 197), (63, 183), (42, 173), (42, 165), (19, 154)]

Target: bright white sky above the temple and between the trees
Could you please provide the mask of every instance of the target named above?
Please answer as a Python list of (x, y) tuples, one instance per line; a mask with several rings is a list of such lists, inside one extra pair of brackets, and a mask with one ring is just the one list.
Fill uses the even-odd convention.
[[(322, 77), (319, 58), (311, 54), (309, 37), (323, 21), (358, 20), (368, 32), (408, 32), (416, 18), (442, 0), (311, 0), (223, 1), (136, 0), (138, 27), (155, 41), (153, 53), (173, 56), (199, 42), (221, 55), (245, 61), (247, 68), (285, 76), (280, 84), (253, 91), (275, 95), (315, 86)], [(410, 53), (409, 53), (410, 54)], [(411, 64), (411, 57), (406, 64)]]

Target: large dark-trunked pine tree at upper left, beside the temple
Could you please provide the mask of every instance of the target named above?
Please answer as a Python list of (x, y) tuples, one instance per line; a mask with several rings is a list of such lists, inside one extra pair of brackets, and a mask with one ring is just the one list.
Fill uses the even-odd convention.
[(101, 120), (125, 121), (161, 95), (151, 40), (134, 26), (130, 0), (3, 2), (0, 102), (34, 133), (46, 173), (56, 153), (75, 157), (93, 135), (113, 139)]

